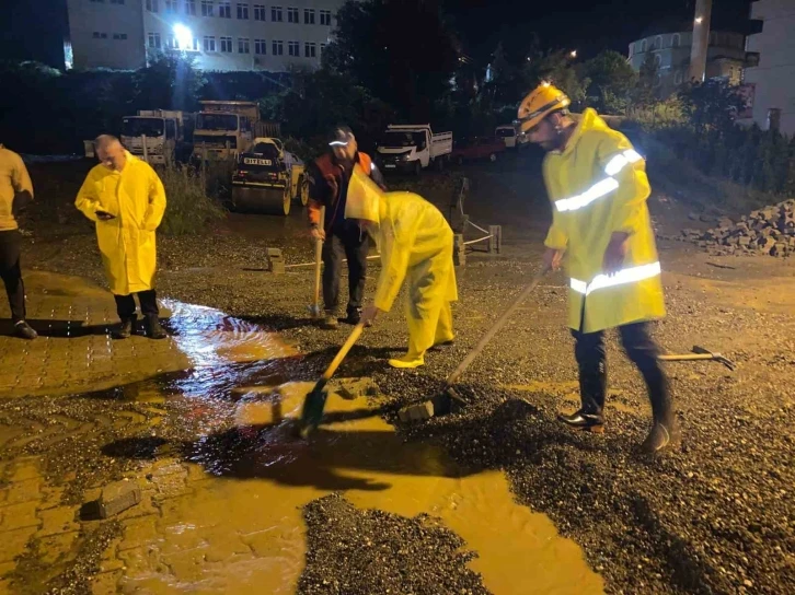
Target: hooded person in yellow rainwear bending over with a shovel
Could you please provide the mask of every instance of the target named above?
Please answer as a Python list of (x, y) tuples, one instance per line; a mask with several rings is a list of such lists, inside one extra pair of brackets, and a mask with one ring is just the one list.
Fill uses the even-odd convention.
[(372, 323), (407, 284), (408, 351), (389, 361), (417, 368), (425, 352), (453, 340), (450, 302), (458, 300), (452, 262), (452, 230), (439, 210), (412, 192), (384, 192), (356, 166), (348, 186), (345, 218), (358, 220), (381, 252), (381, 275), (372, 305), (361, 314)]

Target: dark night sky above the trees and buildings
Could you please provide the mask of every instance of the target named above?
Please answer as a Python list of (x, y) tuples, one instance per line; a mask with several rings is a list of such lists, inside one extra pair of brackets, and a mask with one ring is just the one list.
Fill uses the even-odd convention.
[[(500, 36), (533, 32), (543, 46), (576, 48), (581, 58), (606, 48), (626, 54), (630, 42), (655, 32), (654, 27), (682, 28), (692, 23), (694, 10), (694, 0), (442, 1), (462, 33), (465, 51), (479, 61), (487, 60)], [(0, 2), (0, 56), (62, 66), (66, 0)], [(748, 0), (714, 0), (712, 26), (745, 33), (748, 13)]]

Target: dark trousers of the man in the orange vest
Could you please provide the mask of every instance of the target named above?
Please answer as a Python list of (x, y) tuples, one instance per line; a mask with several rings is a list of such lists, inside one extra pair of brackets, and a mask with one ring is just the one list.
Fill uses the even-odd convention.
[(343, 259), (348, 259), (348, 313), (361, 308), (367, 279), (367, 252), (370, 242), (358, 226), (333, 231), (323, 243), (323, 303), (327, 314), (339, 307), (339, 275)]

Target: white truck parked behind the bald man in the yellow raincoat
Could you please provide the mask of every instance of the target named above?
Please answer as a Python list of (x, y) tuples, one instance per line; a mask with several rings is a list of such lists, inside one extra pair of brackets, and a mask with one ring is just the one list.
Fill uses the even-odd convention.
[(122, 144), (134, 155), (157, 165), (174, 160), (185, 141), (185, 114), (170, 109), (139, 109), (122, 119)]

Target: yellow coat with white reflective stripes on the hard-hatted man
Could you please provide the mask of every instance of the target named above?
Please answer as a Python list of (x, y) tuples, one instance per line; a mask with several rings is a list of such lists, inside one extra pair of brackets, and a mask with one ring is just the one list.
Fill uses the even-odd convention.
[[(568, 255), (568, 326), (595, 332), (665, 316), (646, 167), (626, 137), (586, 109), (565, 149), (546, 155), (543, 174), (553, 213), (544, 244)], [(613, 232), (630, 237), (623, 268), (607, 277)]]

